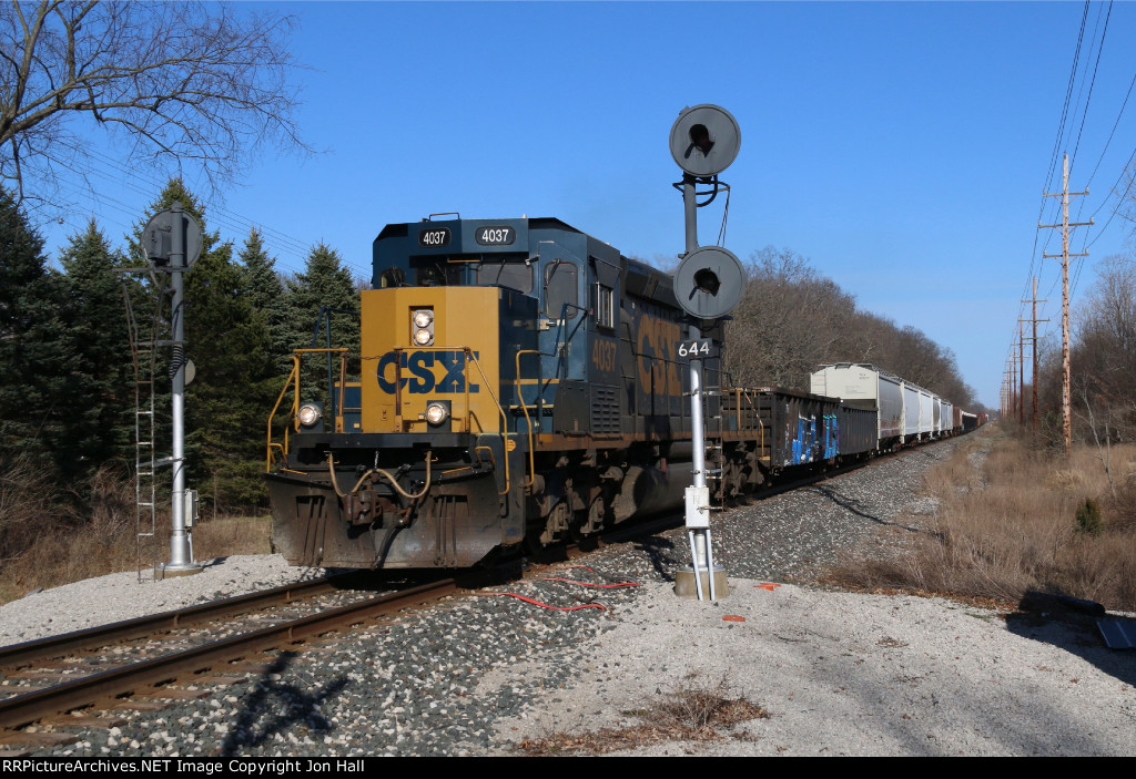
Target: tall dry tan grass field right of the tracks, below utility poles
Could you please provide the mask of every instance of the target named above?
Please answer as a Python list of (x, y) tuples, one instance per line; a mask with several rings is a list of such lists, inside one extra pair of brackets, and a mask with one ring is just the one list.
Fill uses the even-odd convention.
[[(1108, 457), (1111, 483), (1095, 448), (1067, 462), (986, 429), (926, 474), (924, 494), (938, 509), (903, 519), (921, 532), (897, 553), (844, 560), (829, 578), (1003, 603), (1036, 590), (1136, 610), (1136, 447)], [(1099, 533), (1078, 525), (1086, 499), (1101, 506)]]

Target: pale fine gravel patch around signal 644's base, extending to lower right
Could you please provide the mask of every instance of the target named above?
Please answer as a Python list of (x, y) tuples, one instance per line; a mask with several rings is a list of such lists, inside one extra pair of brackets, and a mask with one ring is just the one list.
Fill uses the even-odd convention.
[(769, 718), (718, 742), (613, 754), (1136, 754), (1136, 657), (1105, 649), (1084, 625), (1008, 625), (942, 599), (758, 584), (732, 578), (717, 603), (650, 586), (615, 629), (579, 647), (570, 688), (501, 721), (498, 736), (628, 728), (640, 720), (625, 712), (725, 680), (730, 697)]

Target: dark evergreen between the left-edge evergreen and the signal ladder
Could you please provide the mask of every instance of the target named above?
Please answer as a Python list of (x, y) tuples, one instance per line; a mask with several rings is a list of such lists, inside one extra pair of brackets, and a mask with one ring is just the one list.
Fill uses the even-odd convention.
[(60, 452), (68, 480), (90, 475), (111, 458), (131, 459), (133, 375), (123, 291), (115, 252), (92, 219), (86, 232), (70, 238), (60, 256), (65, 337), (70, 356), (64, 391), (68, 441)]

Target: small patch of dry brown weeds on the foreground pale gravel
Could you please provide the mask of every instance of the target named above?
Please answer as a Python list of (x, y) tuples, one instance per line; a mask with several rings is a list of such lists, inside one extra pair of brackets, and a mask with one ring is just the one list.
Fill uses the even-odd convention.
[(517, 745), (529, 754), (583, 752), (605, 754), (662, 742), (721, 740), (720, 729), (738, 722), (766, 719), (769, 712), (744, 697), (728, 697), (727, 677), (705, 681), (698, 674), (687, 676), (676, 688), (665, 692), (644, 708), (628, 712), (638, 725), (623, 728), (569, 734), (557, 731)]

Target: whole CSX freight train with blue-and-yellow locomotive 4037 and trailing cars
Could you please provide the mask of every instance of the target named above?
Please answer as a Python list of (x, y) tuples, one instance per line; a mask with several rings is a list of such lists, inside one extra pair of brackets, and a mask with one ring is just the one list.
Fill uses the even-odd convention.
[[(269, 421), (292, 565), (461, 568), (677, 508), (693, 350), (719, 501), (975, 421), (866, 365), (822, 366), (811, 393), (729, 387), (721, 328), (690, 339), (668, 274), (557, 219), (390, 225), (373, 271), (359, 354), (300, 350), (283, 434)], [(329, 386), (302, 386), (301, 359)]]

